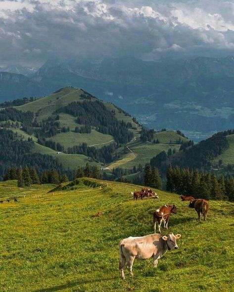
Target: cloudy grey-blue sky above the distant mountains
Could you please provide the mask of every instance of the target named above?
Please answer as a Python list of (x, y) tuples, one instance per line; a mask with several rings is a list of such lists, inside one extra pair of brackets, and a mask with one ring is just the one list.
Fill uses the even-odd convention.
[(0, 0), (0, 66), (234, 55), (234, 0)]

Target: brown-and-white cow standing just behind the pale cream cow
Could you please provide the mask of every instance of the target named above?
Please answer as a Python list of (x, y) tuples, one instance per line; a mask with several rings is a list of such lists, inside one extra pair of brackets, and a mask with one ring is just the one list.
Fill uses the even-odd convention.
[(161, 224), (164, 223), (164, 228), (168, 229), (168, 221), (171, 217), (171, 214), (176, 214), (176, 206), (162, 206), (160, 209), (157, 209), (153, 213), (153, 224), (154, 224), (154, 233), (156, 233), (156, 221), (158, 222), (158, 231), (161, 233)]

